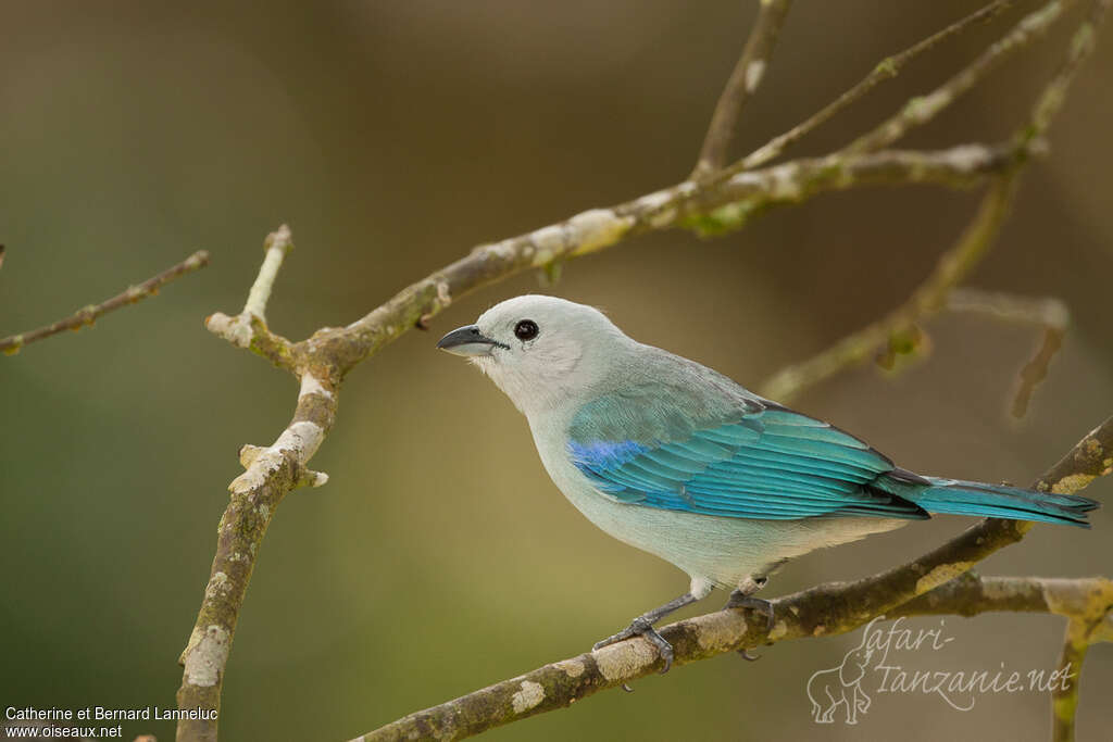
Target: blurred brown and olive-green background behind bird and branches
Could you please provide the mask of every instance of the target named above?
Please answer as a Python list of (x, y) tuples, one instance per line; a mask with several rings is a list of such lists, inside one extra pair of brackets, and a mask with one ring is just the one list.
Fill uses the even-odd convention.
[[(1022, 2), (1021, 10), (1032, 3)], [(365, 314), (471, 246), (626, 200), (691, 168), (756, 2), (374, 0), (0, 3), (0, 334), (106, 298), (198, 248), (204, 271), (95, 329), (0, 358), (0, 704), (173, 706), (244, 443), (288, 421), (284, 373), (208, 335), (238, 310), (264, 236), (289, 222), (268, 309), (299, 338)], [(797, 3), (739, 149), (849, 87), (972, 2)], [(800, 152), (844, 144), (957, 70), (1018, 18), (915, 63)], [(1008, 135), (1070, 23), (908, 138)], [(1106, 29), (1110, 31), (1110, 29)], [(1027, 482), (1113, 412), (1113, 37), (1083, 71), (971, 284), (1064, 299), (1065, 347), (1031, 414), (1006, 413), (1038, 333), (942, 315), (933, 353), (857, 368), (796, 406), (932, 474)], [(977, 196), (824, 196), (701, 241), (639, 238), (565, 266), (560, 296), (757, 386), (900, 303)], [(682, 592), (671, 565), (611, 541), (543, 473), (525, 422), (434, 350), (442, 332), (539, 290), (523, 275), (456, 301), (353, 373), (314, 459), (323, 489), (283, 503), (225, 682), (225, 739), (347, 739), (569, 656)], [(1091, 492), (1113, 499), (1113, 482)], [(989, 574), (1111, 574), (1113, 507), (1092, 532), (1037, 528)], [(778, 594), (912, 557), (965, 526), (939, 517), (812, 555)], [(710, 598), (693, 611), (721, 600)], [(937, 620), (918, 625), (933, 627)], [(1052, 669), (1062, 622), (947, 619), (913, 670)], [(860, 634), (674, 670), (495, 740), (1042, 739), (1035, 694), (877, 696), (857, 728), (817, 726), (805, 685)], [(1082, 739), (1113, 728), (1113, 650), (1085, 666)], [(125, 736), (173, 739), (169, 724)]]

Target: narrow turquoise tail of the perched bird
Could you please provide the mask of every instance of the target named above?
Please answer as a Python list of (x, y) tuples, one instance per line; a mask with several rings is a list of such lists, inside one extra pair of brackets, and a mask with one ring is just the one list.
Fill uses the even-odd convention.
[(910, 499), (929, 513), (1040, 521), (1089, 528), (1086, 513), (1099, 506), (1096, 501), (1080, 495), (1057, 495), (1003, 484), (935, 476), (924, 478), (930, 486), (909, 487), (895, 494)]

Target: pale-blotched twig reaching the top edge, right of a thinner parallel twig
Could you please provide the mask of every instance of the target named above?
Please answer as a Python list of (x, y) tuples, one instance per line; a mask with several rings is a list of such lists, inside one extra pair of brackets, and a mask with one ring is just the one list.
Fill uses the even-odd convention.
[(957, 75), (930, 93), (909, 100), (884, 123), (847, 145), (844, 151), (868, 152), (887, 147), (909, 129), (932, 120), (939, 111), (969, 91), (997, 65), (1043, 36), (1072, 2), (1073, 0), (1052, 0), (1040, 10), (1028, 13)]

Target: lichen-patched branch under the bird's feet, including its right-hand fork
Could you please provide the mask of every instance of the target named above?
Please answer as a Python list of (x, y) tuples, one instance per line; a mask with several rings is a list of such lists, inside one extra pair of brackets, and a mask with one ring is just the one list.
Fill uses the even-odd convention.
[[(1113, 468), (1113, 417), (1084, 437), (1036, 482), (1053, 492), (1078, 492)], [(1113, 583), (1103, 577), (1081, 581), (964, 577), (978, 561), (1015, 543), (1031, 524), (986, 520), (919, 558), (851, 583), (829, 583), (772, 600), (776, 623), (745, 610), (723, 610), (660, 629), (672, 644), (673, 666), (726, 652), (792, 639), (853, 631), (878, 615), (986, 611), (1052, 612), (1067, 616), (1106, 615), (1113, 607)], [(933, 591), (934, 596), (929, 594)], [(910, 603), (916, 598), (917, 602)], [(657, 649), (642, 637), (548, 664), (524, 675), (391, 722), (359, 738), (387, 740), (459, 740), (617, 687), (657, 672)]]

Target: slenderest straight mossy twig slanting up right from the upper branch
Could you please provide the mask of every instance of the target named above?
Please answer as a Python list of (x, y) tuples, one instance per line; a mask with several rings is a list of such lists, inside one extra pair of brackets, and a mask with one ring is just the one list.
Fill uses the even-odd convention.
[(935, 48), (952, 37), (958, 36), (968, 28), (977, 26), (978, 23), (989, 22), (1012, 4), (1013, 0), (997, 0), (996, 2), (991, 2), (985, 8), (955, 21), (947, 28), (933, 33), (923, 41), (913, 44), (904, 51), (893, 55), (892, 57), (886, 57), (879, 61), (873, 70), (870, 70), (869, 75), (859, 80), (853, 88), (821, 108), (817, 113), (812, 115), (807, 120), (796, 125), (785, 133), (774, 137), (767, 144), (754, 150), (742, 158), (741, 162), (731, 166), (729, 170), (731, 172), (752, 170), (754, 168), (760, 167), (776, 157), (780, 157), (786, 149), (795, 145), (821, 125), (826, 123), (836, 113), (857, 102), (860, 98), (885, 80), (895, 78), (900, 73), (905, 66), (908, 65), (908, 62), (919, 55)]

